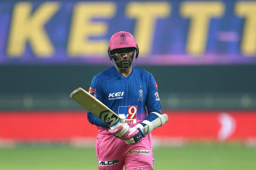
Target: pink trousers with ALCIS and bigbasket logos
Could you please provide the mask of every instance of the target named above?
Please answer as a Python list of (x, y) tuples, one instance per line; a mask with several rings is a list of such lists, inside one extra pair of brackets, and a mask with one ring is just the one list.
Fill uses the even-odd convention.
[(99, 170), (153, 169), (151, 134), (138, 144), (128, 145), (121, 139), (108, 134), (98, 134), (95, 144)]

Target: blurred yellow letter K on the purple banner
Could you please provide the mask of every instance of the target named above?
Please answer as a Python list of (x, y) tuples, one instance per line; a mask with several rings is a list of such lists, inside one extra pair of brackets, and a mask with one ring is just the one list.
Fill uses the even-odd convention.
[(7, 53), (10, 57), (19, 57), (24, 53), (26, 42), (39, 57), (49, 57), (54, 48), (44, 30), (45, 23), (59, 9), (59, 3), (46, 2), (33, 14), (32, 4), (20, 2), (14, 6)]

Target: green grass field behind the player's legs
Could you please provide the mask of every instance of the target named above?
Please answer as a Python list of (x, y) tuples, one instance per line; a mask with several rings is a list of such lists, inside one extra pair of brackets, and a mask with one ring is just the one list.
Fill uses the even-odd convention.
[[(154, 170), (254, 170), (256, 148), (241, 144), (189, 144), (154, 149)], [(17, 147), (0, 149), (3, 170), (97, 169), (94, 148)]]

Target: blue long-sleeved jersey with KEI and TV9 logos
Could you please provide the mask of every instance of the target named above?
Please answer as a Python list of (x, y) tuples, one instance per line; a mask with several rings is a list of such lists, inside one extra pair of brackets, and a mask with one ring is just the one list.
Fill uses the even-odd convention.
[[(145, 120), (147, 110), (148, 114), (151, 112), (161, 114), (155, 78), (138, 67), (132, 67), (128, 77), (120, 74), (115, 66), (103, 70), (93, 77), (89, 92), (116, 114), (123, 115), (130, 127)], [(108, 128), (107, 124), (90, 111), (87, 116), (90, 123), (99, 126), (99, 132)]]

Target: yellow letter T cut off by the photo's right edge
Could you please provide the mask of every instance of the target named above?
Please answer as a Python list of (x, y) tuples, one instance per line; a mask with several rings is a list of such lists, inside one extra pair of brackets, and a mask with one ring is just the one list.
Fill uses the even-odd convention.
[(256, 1), (236, 3), (235, 12), (244, 17), (244, 32), (241, 50), (245, 56), (256, 56)]

